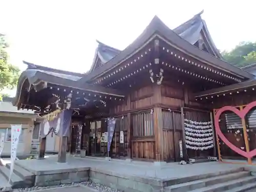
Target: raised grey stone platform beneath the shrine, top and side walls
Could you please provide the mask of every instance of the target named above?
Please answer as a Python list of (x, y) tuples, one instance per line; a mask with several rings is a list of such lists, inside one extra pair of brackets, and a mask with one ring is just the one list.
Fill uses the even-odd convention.
[[(82, 159), (71, 156), (68, 158), (67, 164), (56, 163), (56, 160), (57, 157), (49, 157), (45, 160), (17, 160), (15, 164), (29, 170), (35, 175), (36, 179), (33, 186), (58, 185), (87, 181), (90, 179), (96, 183), (104, 184), (125, 192), (170, 191), (168, 187), (172, 187), (172, 191), (178, 191), (173, 190), (173, 185), (176, 185), (176, 188), (182, 187), (182, 191), (189, 191), (206, 186), (205, 179), (213, 178), (207, 183), (214, 182), (218, 184), (220, 181), (225, 182), (229, 180), (225, 180), (223, 177), (232, 180), (234, 177), (240, 178), (242, 176), (246, 182), (253, 181), (253, 185), (255, 184), (256, 186), (256, 177), (248, 178), (249, 172), (243, 172), (243, 167), (218, 162), (181, 166), (178, 163), (151, 163), (135, 160), (133, 160), (132, 163), (127, 163), (125, 160), (117, 161), (113, 159), (112, 161), (106, 161), (104, 158)], [(154, 166), (154, 164), (164, 165), (164, 167), (157, 167)], [(215, 178), (221, 175), (227, 176)], [(202, 181), (199, 182), (198, 180)], [(191, 183), (192, 181), (195, 182)], [(234, 183), (241, 182), (235, 181)], [(180, 184), (182, 184), (182, 186)], [(225, 185), (228, 184), (229, 183), (226, 183)], [(189, 190), (185, 190), (186, 186), (190, 187)]]

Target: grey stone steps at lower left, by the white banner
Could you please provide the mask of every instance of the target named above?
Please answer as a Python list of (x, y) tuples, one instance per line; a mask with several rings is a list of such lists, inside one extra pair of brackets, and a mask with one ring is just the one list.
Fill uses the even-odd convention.
[[(4, 177), (8, 182), (10, 175), (10, 165), (0, 166), (0, 175)], [(34, 178), (35, 177), (32, 174), (28, 174), (27, 170), (24, 170), (22, 167), (14, 165), (10, 184), (12, 188), (31, 187), (34, 184)]]

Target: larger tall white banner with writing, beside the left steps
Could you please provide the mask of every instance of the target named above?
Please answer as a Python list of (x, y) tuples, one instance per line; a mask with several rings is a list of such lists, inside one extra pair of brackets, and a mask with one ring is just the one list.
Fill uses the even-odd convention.
[(17, 147), (18, 147), (18, 140), (19, 140), (19, 135), (20, 132), (22, 132), (22, 125), (21, 124), (12, 124), (11, 125), (11, 134), (12, 134), (12, 139), (11, 139), (11, 167), (10, 167), (10, 176), (9, 176), (9, 183), (11, 180), (12, 172), (13, 172), (13, 167), (16, 159), (16, 152), (17, 152)]

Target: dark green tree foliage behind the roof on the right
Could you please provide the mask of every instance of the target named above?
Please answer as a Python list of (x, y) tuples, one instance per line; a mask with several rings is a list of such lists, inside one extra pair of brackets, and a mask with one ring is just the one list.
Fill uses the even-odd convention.
[(231, 51), (222, 52), (223, 58), (237, 67), (256, 63), (256, 42), (240, 42)]

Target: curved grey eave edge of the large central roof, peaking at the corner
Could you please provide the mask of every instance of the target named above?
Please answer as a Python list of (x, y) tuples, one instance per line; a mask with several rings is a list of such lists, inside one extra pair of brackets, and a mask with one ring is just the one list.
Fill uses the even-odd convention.
[[(176, 29), (177, 30), (177, 29)], [(177, 30), (178, 31), (178, 30)], [(229, 63), (210, 55), (209, 53), (200, 50), (194, 45), (191, 45), (190, 42), (183, 39), (173, 30), (170, 30), (157, 16), (155, 16), (151, 23), (146, 27), (142, 34), (133, 41), (133, 43), (113, 57), (111, 60), (106, 62), (103, 66), (98, 69), (95, 69), (93, 72), (89, 73), (87, 76), (84, 76), (80, 79), (79, 83), (87, 82), (88, 80), (94, 79), (116, 66), (120, 65), (124, 60), (133, 56), (138, 50), (145, 47), (154, 37), (159, 36), (167, 41), (170, 45), (179, 48), (185, 54), (191, 55), (202, 62), (212, 65), (215, 68), (219, 68), (223, 71), (231, 73), (233, 75), (239, 76), (240, 78), (251, 79), (254, 75), (241, 70), (235, 66), (230, 65)]]

